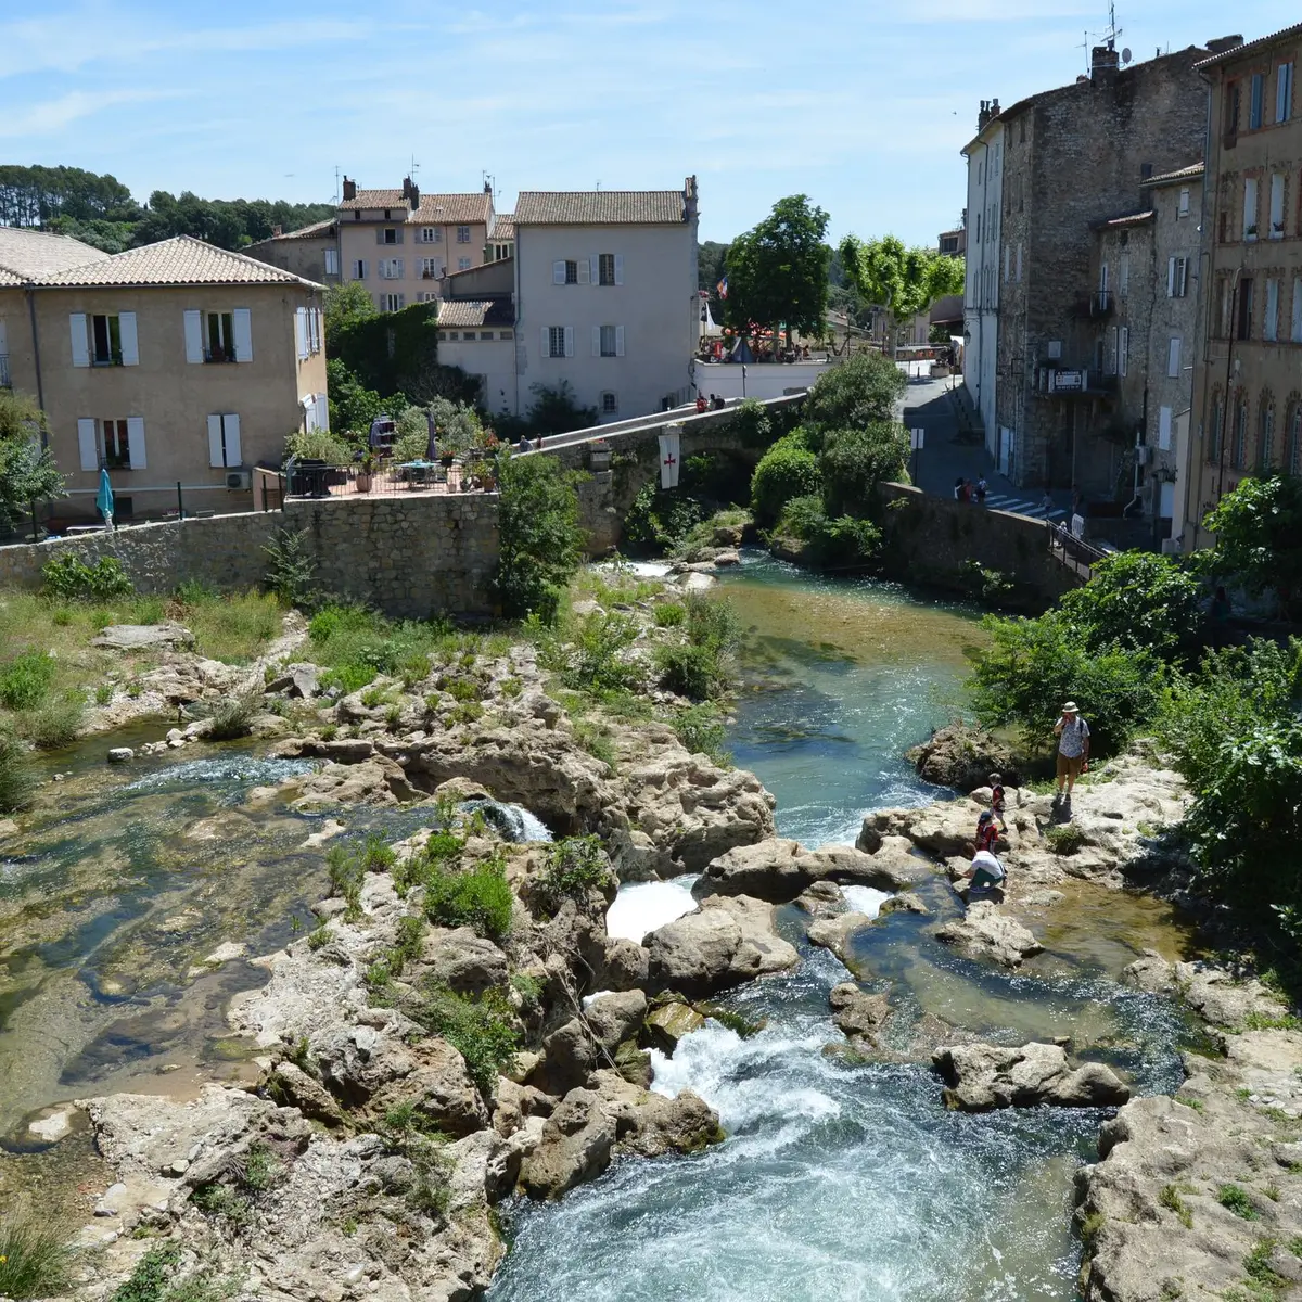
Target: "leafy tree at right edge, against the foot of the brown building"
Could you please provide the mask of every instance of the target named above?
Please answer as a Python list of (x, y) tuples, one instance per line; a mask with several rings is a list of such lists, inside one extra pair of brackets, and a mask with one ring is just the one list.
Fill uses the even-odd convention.
[(1210, 574), (1275, 591), (1285, 615), (1302, 613), (1302, 478), (1243, 479), (1203, 523), (1216, 535), (1202, 553)]

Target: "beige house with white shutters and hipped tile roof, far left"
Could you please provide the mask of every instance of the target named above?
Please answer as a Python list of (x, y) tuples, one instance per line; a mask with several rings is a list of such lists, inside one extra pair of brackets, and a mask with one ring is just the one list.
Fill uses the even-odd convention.
[(174, 508), (178, 484), (187, 510), (249, 509), (250, 467), (328, 423), (320, 296), (190, 236), (8, 272), (10, 381), (49, 418), (70, 493), (57, 514), (94, 517), (102, 469), (122, 518)]

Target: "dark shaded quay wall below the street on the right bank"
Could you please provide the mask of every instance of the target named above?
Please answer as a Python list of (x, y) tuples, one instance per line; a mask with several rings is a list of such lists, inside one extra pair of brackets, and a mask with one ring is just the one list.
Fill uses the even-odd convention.
[(963, 595), (974, 591), (971, 561), (1013, 581), (1001, 604), (1048, 609), (1083, 579), (1049, 553), (1043, 519), (932, 497), (911, 484), (880, 484), (883, 566), (888, 578)]

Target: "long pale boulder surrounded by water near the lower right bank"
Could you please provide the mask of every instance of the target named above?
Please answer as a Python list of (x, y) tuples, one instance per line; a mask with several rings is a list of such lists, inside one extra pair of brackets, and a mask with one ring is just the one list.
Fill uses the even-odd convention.
[(1101, 1062), (1073, 1070), (1060, 1044), (952, 1044), (936, 1049), (931, 1065), (945, 1082), (945, 1107), (961, 1112), (1040, 1103), (1111, 1108), (1130, 1098), (1125, 1082)]

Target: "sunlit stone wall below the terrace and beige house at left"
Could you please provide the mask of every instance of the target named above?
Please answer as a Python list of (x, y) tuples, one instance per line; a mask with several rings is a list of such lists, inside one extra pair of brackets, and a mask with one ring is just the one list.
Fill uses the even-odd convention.
[(87, 564), (116, 556), (143, 594), (165, 595), (185, 582), (256, 587), (267, 575), (266, 547), (283, 529), (306, 531), (324, 592), (395, 618), (492, 613), (496, 493), (290, 499), (284, 512), (0, 547), (0, 587), (36, 589), (46, 562), (68, 555)]

